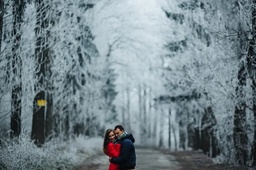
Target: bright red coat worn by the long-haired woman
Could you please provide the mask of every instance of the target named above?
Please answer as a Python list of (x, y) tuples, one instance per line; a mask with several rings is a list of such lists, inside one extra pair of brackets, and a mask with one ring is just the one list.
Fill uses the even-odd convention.
[[(121, 154), (121, 144), (113, 144), (112, 142), (109, 142), (108, 148), (107, 148), (107, 155), (111, 158), (119, 157)], [(119, 170), (118, 164), (110, 163), (108, 170)]]

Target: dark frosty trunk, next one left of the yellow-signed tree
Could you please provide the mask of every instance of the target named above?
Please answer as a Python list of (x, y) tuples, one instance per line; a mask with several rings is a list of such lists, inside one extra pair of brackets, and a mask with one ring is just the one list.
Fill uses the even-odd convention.
[(21, 68), (22, 59), (20, 56), (20, 37), (21, 37), (21, 23), (23, 15), (24, 2), (15, 0), (12, 5), (12, 73), (15, 77), (15, 82), (12, 85), (12, 112), (11, 112), (11, 137), (20, 135), (21, 128), (21, 98), (22, 98), (22, 82), (21, 82)]

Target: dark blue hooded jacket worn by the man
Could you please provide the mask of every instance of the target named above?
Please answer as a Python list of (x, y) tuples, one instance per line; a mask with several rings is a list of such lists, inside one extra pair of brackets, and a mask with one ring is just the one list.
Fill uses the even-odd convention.
[(118, 142), (121, 144), (121, 156), (111, 159), (114, 164), (119, 164), (120, 170), (133, 169), (136, 166), (136, 154), (134, 148), (135, 139), (130, 133)]

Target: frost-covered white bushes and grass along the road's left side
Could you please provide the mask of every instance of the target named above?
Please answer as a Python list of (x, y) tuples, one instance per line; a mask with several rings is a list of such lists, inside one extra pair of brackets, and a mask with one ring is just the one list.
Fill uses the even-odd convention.
[(19, 138), (4, 142), (0, 148), (0, 170), (59, 170), (72, 169), (89, 163), (102, 153), (103, 139), (79, 136), (69, 141), (52, 139), (38, 148), (25, 127)]

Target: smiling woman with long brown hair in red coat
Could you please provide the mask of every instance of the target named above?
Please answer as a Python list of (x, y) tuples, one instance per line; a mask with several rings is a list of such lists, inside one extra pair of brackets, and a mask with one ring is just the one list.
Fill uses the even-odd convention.
[[(120, 156), (121, 144), (116, 142), (116, 134), (113, 129), (108, 129), (105, 133), (103, 152), (110, 156), (111, 158), (116, 158)], [(110, 163), (108, 170), (119, 170), (118, 164)]]

